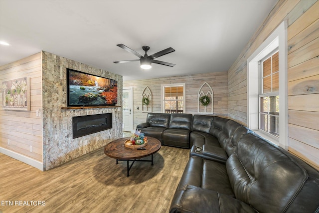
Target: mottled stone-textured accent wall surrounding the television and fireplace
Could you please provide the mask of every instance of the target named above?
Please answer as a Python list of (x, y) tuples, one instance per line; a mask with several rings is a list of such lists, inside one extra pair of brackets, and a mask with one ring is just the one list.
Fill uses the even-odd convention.
[[(57, 167), (122, 137), (122, 107), (61, 109), (66, 107), (66, 68), (117, 80), (117, 105), (122, 105), (123, 78), (121, 75), (42, 51), (44, 170)], [(113, 113), (112, 129), (72, 139), (73, 116), (110, 112)]]

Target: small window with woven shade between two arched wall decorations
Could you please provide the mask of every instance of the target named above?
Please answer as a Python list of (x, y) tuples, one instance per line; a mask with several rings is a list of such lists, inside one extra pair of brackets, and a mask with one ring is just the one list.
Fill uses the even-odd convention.
[(185, 109), (185, 83), (161, 85), (162, 112), (183, 113)]

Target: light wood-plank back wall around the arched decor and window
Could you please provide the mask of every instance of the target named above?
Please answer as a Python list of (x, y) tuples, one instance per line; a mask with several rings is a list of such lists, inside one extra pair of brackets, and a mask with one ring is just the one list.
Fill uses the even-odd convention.
[[(227, 116), (227, 71), (146, 80), (124, 81), (124, 87), (133, 86), (133, 127), (135, 128), (136, 125), (138, 125), (139, 123), (146, 121), (147, 113), (142, 112), (142, 93), (146, 86), (148, 86), (152, 92), (152, 112), (161, 112), (160, 85), (172, 83), (185, 83), (186, 110), (184, 111), (184, 113), (197, 114), (197, 94), (204, 82), (207, 82), (214, 91), (214, 115)], [(139, 106), (139, 110), (137, 109), (137, 106)]]

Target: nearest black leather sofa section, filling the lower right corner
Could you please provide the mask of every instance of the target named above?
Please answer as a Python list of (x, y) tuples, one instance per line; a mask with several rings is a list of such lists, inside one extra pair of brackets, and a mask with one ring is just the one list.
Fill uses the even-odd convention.
[(318, 198), (318, 171), (250, 132), (226, 164), (190, 157), (170, 213), (315, 213)]

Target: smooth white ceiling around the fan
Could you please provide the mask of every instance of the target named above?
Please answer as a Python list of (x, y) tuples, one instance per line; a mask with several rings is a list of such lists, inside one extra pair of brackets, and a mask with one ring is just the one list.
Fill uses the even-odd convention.
[[(227, 71), (277, 0), (0, 0), (0, 65), (41, 50), (123, 75), (150, 79)], [(116, 44), (144, 55), (176, 51), (145, 71)], [(85, 71), (85, 70), (81, 70)]]

